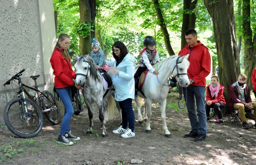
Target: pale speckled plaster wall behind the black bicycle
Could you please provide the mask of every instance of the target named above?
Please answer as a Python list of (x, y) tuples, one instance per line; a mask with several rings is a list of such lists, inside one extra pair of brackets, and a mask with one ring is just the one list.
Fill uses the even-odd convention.
[[(53, 0), (0, 0), (0, 124), (6, 104), (17, 95), (3, 84), (22, 73), (22, 82), (34, 86), (31, 75), (39, 74), (40, 90), (54, 86), (50, 58), (56, 44)], [(17, 90), (17, 88), (15, 89)]]

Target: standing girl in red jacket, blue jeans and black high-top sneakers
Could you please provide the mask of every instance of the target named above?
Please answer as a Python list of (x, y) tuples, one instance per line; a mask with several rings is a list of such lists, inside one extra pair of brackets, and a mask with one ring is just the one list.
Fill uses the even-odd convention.
[(70, 45), (70, 38), (67, 34), (61, 34), (58, 38), (55, 50), (50, 59), (53, 68), (53, 74), (55, 75), (54, 84), (57, 93), (59, 94), (62, 103), (65, 108), (64, 117), (61, 124), (61, 131), (57, 142), (66, 145), (72, 145), (73, 142), (69, 141), (80, 140), (80, 137), (73, 136), (70, 131), (70, 119), (74, 114), (72, 105), (71, 87), (74, 85), (77, 89), (82, 88), (75, 84), (76, 74), (72, 70), (70, 64), (70, 56), (68, 53), (68, 47)]

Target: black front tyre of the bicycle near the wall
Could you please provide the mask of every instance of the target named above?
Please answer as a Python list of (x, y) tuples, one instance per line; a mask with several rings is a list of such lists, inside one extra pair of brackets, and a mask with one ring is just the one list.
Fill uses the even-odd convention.
[[(11, 116), (11, 115), (9, 115), (10, 108), (11, 108), (15, 103), (18, 103), (18, 102), (21, 102), (21, 104), (24, 105), (23, 99), (20, 98), (20, 97), (19, 97), (19, 98), (15, 98), (15, 99), (11, 100), (10, 102), (8, 102), (8, 104), (6, 105), (5, 110), (4, 110), (4, 122), (5, 122), (6, 126), (7, 126), (7, 128), (8, 128), (14, 135), (16, 135), (16, 136), (18, 136), (18, 137), (20, 137), (20, 138), (31, 138), (31, 137), (34, 137), (34, 136), (36, 136), (36, 135), (41, 131), (41, 129), (42, 129), (42, 126), (43, 126), (43, 124), (44, 124), (44, 116), (43, 116), (43, 114), (42, 114), (40, 108), (39, 108), (32, 100), (26, 99), (27, 107), (28, 107), (28, 104), (34, 107), (36, 116), (37, 116), (37, 118), (39, 118), (39, 123), (38, 123), (38, 126), (36, 127), (36, 129), (35, 129), (33, 132), (31, 132), (31, 133), (30, 133), (30, 132), (29, 132), (29, 133), (22, 133), (21, 130), (15, 129), (14, 124), (12, 124), (12, 123), (10, 122), (10, 120), (9, 120), (9, 116)], [(19, 108), (19, 107), (18, 107), (18, 108)], [(14, 108), (14, 109), (16, 109), (16, 108)], [(19, 111), (17, 111), (17, 112), (19, 112), (19, 114), (17, 114), (17, 117), (18, 117), (18, 115), (21, 115), (21, 114), (20, 114), (20, 109), (19, 109)], [(14, 114), (14, 113), (13, 113), (13, 114)], [(29, 124), (30, 124), (30, 123), (29, 123), (29, 124), (24, 124), (24, 122), (22, 122), (22, 121), (24, 121), (24, 120), (22, 120), (20, 117), (21, 117), (21, 116), (19, 116), (18, 118), (16, 118), (16, 119), (18, 119), (17, 121), (19, 122), (19, 124), (17, 123), (17, 126), (23, 127), (22, 125), (24, 125), (24, 126), (26, 127), (26, 125), (29, 125)], [(10, 118), (11, 118), (11, 117), (10, 117)], [(34, 119), (35, 119), (35, 118), (34, 118)], [(33, 122), (32, 122), (32, 123), (34, 123), (34, 119), (33, 119)], [(11, 120), (14, 121), (14, 119), (11, 119)], [(32, 121), (32, 120), (31, 120), (31, 121)], [(29, 125), (29, 126), (30, 126), (30, 125)], [(31, 127), (31, 126), (30, 126), (30, 127)], [(23, 131), (24, 131), (24, 129), (23, 129)]]

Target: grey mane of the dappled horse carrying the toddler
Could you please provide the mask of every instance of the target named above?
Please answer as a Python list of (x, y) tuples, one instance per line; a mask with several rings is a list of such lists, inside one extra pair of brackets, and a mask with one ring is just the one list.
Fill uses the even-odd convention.
[[(94, 62), (93, 58), (91, 56), (89, 56), (89, 54), (81, 56), (78, 60), (77, 60), (77, 64), (79, 66), (79, 64), (81, 64), (82, 62), (85, 62), (84, 60), (86, 60), (90, 67), (89, 67), (89, 71), (90, 71), (90, 77), (92, 77), (92, 79), (94, 79), (94, 81), (97, 81), (98, 79), (98, 73), (97, 73), (97, 67), (96, 67), (96, 63)], [(100, 79), (98, 80), (100, 81)]]

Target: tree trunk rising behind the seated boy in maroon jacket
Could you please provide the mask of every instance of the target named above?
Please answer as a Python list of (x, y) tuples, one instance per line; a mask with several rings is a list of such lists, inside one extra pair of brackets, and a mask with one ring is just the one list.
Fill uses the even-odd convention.
[[(245, 74), (247, 75), (247, 85), (252, 89), (252, 70), (255, 68), (255, 54), (256, 54), (256, 35), (252, 34), (251, 29), (251, 10), (250, 10), (250, 0), (243, 0), (243, 29), (244, 32), (244, 69)], [(246, 19), (245, 19), (246, 18)], [(254, 29), (254, 31), (256, 28)], [(252, 40), (253, 39), (253, 40)]]

